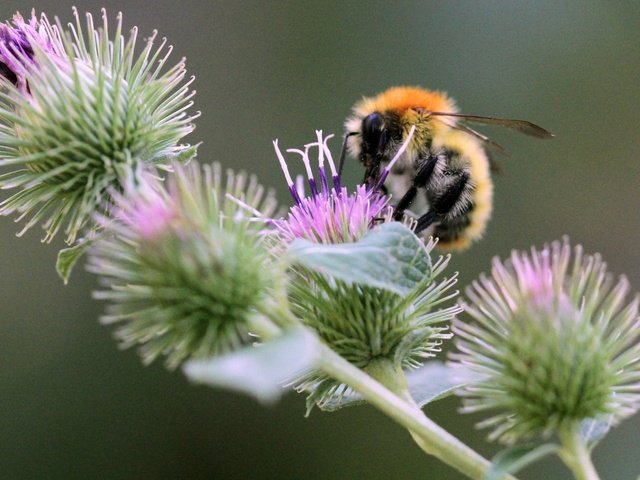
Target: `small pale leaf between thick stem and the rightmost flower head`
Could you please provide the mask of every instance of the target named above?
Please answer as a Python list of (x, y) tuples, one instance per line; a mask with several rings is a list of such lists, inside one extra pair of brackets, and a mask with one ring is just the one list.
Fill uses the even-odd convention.
[(419, 407), (448, 397), (471, 380), (471, 374), (438, 361), (407, 373), (409, 392)]

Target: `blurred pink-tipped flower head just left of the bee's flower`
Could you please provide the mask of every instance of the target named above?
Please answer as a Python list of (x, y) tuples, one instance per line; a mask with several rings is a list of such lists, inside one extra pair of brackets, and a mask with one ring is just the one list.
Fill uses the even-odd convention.
[(263, 225), (236, 200), (270, 215), (273, 197), (244, 175), (228, 172), (225, 183), (219, 165), (174, 168), (168, 189), (140, 174), (114, 194), (89, 255), (105, 286), (96, 297), (109, 302), (103, 321), (119, 325), (124, 347), (141, 345), (145, 362), (166, 356), (172, 368), (248, 342), (277, 283)]

